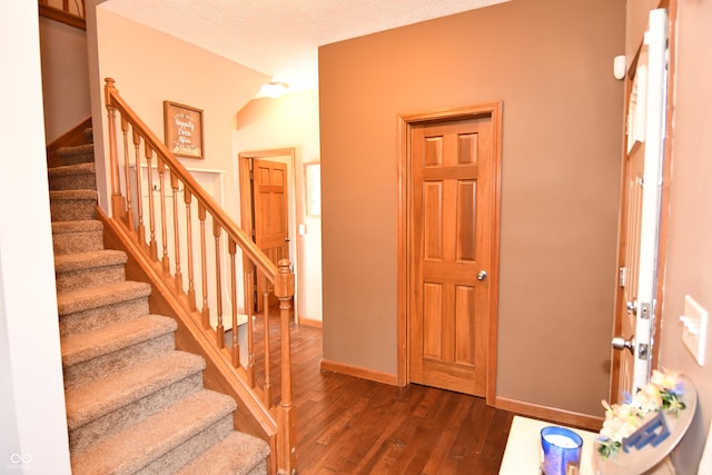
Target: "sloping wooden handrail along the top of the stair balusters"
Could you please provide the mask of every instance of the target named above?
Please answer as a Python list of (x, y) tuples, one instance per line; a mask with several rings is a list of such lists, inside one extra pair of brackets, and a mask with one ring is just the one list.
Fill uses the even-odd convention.
[[(247, 254), (249, 260), (257, 266), (258, 270), (260, 270), (265, 277), (273, 284), (275, 284), (275, 277), (277, 276), (277, 266), (269, 260), (269, 258), (255, 245), (251, 238), (241, 228), (239, 228), (233, 219), (222, 210), (220, 206), (215, 202), (215, 199), (205, 192), (202, 187), (198, 185), (196, 179), (190, 175), (190, 172), (184, 167), (184, 165), (178, 161), (174, 154), (168, 150), (168, 147), (164, 145), (162, 141), (156, 137), (156, 135), (151, 131), (151, 129), (141, 120), (140, 117), (129, 107), (128, 103), (119, 96), (119, 90), (116, 88), (116, 81), (112, 78), (106, 79), (106, 105), (107, 107), (116, 108), (125, 120), (127, 120), (132, 127), (141, 130), (145, 140), (148, 145), (156, 151), (164, 164), (170, 168), (171, 172), (175, 172), (180, 180), (188, 187), (190, 192), (196, 196), (199, 201), (207, 208), (207, 210), (212, 215), (212, 217), (219, 222), (219, 225), (226, 230), (228, 236), (234, 239)], [(109, 130), (111, 135), (111, 130)], [(117, 146), (116, 140), (112, 146)], [(112, 154), (113, 155), (113, 154)], [(116, 171), (116, 177), (118, 179), (118, 165), (111, 164), (112, 171)], [(112, 197), (120, 197), (118, 186), (113, 187), (111, 190)], [(112, 202), (113, 205), (113, 202)], [(119, 214), (122, 215), (125, 211), (120, 210)]]

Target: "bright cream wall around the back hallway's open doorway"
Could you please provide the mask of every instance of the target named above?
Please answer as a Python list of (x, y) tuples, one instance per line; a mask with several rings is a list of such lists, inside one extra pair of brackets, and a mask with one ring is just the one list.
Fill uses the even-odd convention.
[[(250, 101), (237, 115), (234, 137), (238, 151), (281, 148), (295, 149), (294, 194), (296, 222), (305, 234), (291, 230), (297, 253), (297, 315), (300, 319), (322, 320), (322, 219), (306, 216), (304, 164), (318, 162), (319, 97), (316, 90), (293, 92), (279, 99)], [(291, 184), (290, 184), (291, 186)]]

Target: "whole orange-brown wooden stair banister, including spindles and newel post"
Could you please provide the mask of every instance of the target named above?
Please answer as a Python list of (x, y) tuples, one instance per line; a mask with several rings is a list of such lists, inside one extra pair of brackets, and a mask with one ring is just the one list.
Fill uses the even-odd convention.
[[(187, 315), (188, 318), (192, 318), (192, 323), (200, 321), (201, 326), (201, 337), (204, 338), (206, 333), (211, 333), (210, 335), (214, 337), (214, 347), (208, 352), (210, 358), (216, 355), (221, 355), (237, 369), (235, 372), (235, 376), (241, 378), (247, 382), (247, 385), (255, 389), (254, 385), (254, 354), (248, 355), (248, 365), (243, 367), (239, 358), (239, 352), (237, 348), (237, 338), (234, 337), (234, 347), (230, 353), (227, 348), (225, 348), (225, 336), (226, 330), (224, 326), (224, 320), (229, 317), (224, 317), (222, 313), (222, 300), (229, 303), (230, 307), (230, 317), (228, 321), (231, 323), (233, 328), (237, 328), (238, 319), (237, 319), (237, 298), (236, 298), (236, 273), (235, 273), (235, 255), (237, 247), (243, 251), (243, 257), (246, 261), (251, 263), (255, 266), (255, 269), (260, 278), (265, 278), (267, 281), (271, 284), (271, 293), (279, 300), (279, 318), (280, 318), (280, 333), (279, 333), (279, 347), (280, 347), (280, 397), (279, 403), (274, 404), (271, 399), (271, 389), (269, 384), (269, 376), (266, 373), (265, 387), (261, 393), (261, 396), (267, 396), (265, 400), (265, 405), (268, 410), (274, 410), (276, 414), (277, 420), (277, 433), (274, 434), (274, 438), (270, 438), (270, 446), (273, 447), (273, 455), (275, 456), (276, 463), (270, 463), (270, 473), (279, 473), (279, 474), (293, 474), (296, 473), (297, 466), (297, 456), (296, 456), (296, 407), (293, 400), (293, 390), (291, 390), (291, 342), (290, 342), (290, 319), (291, 319), (291, 305), (295, 293), (295, 275), (291, 270), (291, 264), (289, 259), (280, 259), (277, 264), (273, 263), (269, 257), (253, 241), (251, 237), (238, 227), (233, 219), (227, 215), (227, 212), (221, 208), (220, 205), (202, 188), (202, 186), (194, 178), (194, 176), (186, 169), (186, 167), (176, 158), (176, 156), (168, 149), (166, 145), (161, 140), (156, 137), (152, 130), (141, 120), (141, 118), (131, 109), (131, 107), (121, 98), (118, 89), (116, 88), (115, 80), (112, 78), (106, 78), (105, 85), (105, 100), (106, 108), (108, 113), (108, 144), (109, 144), (109, 170), (110, 170), (110, 204), (111, 204), (111, 216), (117, 224), (117, 229), (122, 229), (122, 231), (128, 232), (131, 236), (131, 240), (134, 241), (136, 247), (136, 251), (141, 256), (150, 257), (151, 261), (155, 264), (152, 267), (155, 270), (160, 273), (161, 279), (168, 279), (171, 281), (171, 285), (165, 287), (166, 289), (170, 289), (171, 294), (175, 294), (175, 301), (182, 301), (182, 307), (185, 309), (177, 311), (174, 315), (177, 319), (184, 318), (182, 314)], [(118, 112), (118, 118), (117, 118)], [(120, 122), (120, 126), (117, 123)], [(118, 129), (120, 127), (120, 131), (122, 132), (122, 154), (119, 150), (119, 140), (118, 140)], [(129, 139), (130, 137), (130, 139)], [(158, 181), (160, 184), (158, 190), (160, 191), (159, 205), (160, 205), (160, 243), (162, 247), (162, 256), (159, 259), (156, 255), (156, 239), (155, 239), (155, 222), (154, 222), (154, 201), (152, 201), (152, 191), (148, 192), (149, 196), (149, 225), (150, 225), (150, 240), (147, 244), (145, 240), (145, 222), (144, 222), (144, 214), (141, 210), (141, 165), (140, 158), (140, 149), (141, 149), (141, 140), (144, 141), (145, 149), (145, 159), (148, 175), (148, 186), (151, 190), (156, 190), (151, 186), (151, 178), (154, 170), (158, 174)], [(131, 155), (131, 147), (135, 150), (135, 154)], [(152, 157), (156, 155), (156, 168), (152, 166)], [(136, 158), (134, 165), (131, 165), (131, 156)], [(131, 167), (134, 167), (135, 171), (130, 171)], [(170, 211), (172, 215), (172, 226), (168, 226), (166, 219), (166, 187), (165, 187), (165, 172), (166, 169), (169, 171), (168, 180), (170, 182), (171, 191), (171, 202), (172, 210)], [(134, 207), (135, 197), (132, 196), (132, 185), (130, 185), (131, 179), (136, 175), (136, 202), (138, 207)], [(122, 189), (122, 181), (126, 185), (125, 189)], [(182, 189), (179, 190), (179, 185), (182, 185)], [(123, 195), (126, 191), (126, 195)], [(180, 246), (179, 246), (179, 226), (178, 226), (178, 192), (184, 194), (184, 200), (186, 206), (186, 215), (187, 219), (190, 219), (190, 209), (192, 198), (196, 199), (195, 204), (198, 211), (198, 220), (199, 220), (199, 235), (200, 235), (200, 266), (202, 274), (202, 300), (204, 306), (201, 313), (197, 311), (196, 303), (195, 303), (195, 291), (194, 291), (194, 281), (192, 281), (192, 270), (191, 270), (191, 248), (187, 248), (188, 251), (188, 293), (185, 291), (182, 287), (184, 275), (180, 263)], [(211, 238), (214, 238), (215, 245), (215, 303), (217, 304), (217, 321), (214, 325), (209, 321), (209, 309), (207, 305), (206, 297), (206, 261), (205, 261), (205, 250), (206, 250), (206, 216), (209, 215), (211, 218)], [(169, 232), (169, 228), (172, 232)], [(190, 225), (186, 226), (187, 231), (187, 241), (191, 241), (191, 232)], [(227, 243), (222, 240), (222, 231), (226, 234)], [(174, 250), (175, 250), (175, 260), (174, 260), (174, 269), (171, 270), (170, 257), (167, 254), (168, 234), (172, 235), (174, 238)], [(220, 255), (224, 253), (224, 248), (221, 248), (221, 243), (224, 243), (227, 248), (227, 254), (229, 255), (229, 273), (226, 280), (230, 287), (230, 291), (227, 293), (225, 297), (222, 296), (222, 285), (221, 285), (221, 268), (220, 268)], [(171, 274), (172, 273), (172, 274)], [(251, 270), (246, 269), (246, 276), (250, 276)], [(247, 277), (249, 278), (249, 277)], [(192, 298), (191, 298), (192, 295)], [(253, 309), (249, 307), (245, 307), (245, 311), (247, 314), (248, 323), (251, 323), (251, 311)], [(265, 307), (265, 319), (268, 319), (268, 307)], [(191, 326), (192, 326), (191, 323)], [(266, 325), (266, 328), (268, 326)], [(248, 324), (247, 328), (248, 333), (248, 352), (251, 352), (249, 348), (251, 347), (251, 324)], [(267, 364), (269, 362), (269, 334), (265, 334), (266, 345), (265, 345), (265, 355), (267, 359)], [(207, 354), (204, 354), (206, 356)], [(266, 368), (268, 370), (268, 368)], [(257, 388), (259, 392), (259, 388)], [(271, 437), (271, 436), (270, 436)], [(273, 465), (274, 464), (274, 465)]]

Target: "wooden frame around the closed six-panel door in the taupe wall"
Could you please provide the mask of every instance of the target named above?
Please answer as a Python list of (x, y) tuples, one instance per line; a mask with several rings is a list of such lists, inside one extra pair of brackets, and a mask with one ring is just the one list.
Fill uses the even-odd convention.
[(475, 106), (426, 110), (423, 112), (402, 115), (398, 117), (398, 169), (397, 169), (397, 376), (396, 384), (405, 386), (411, 383), (408, 319), (411, 317), (412, 266), (411, 266), (411, 205), (412, 205), (412, 150), (411, 138), (413, 127), (436, 120), (457, 120), (472, 117), (490, 116), (493, 137), (493, 226), (492, 226), (492, 268), (490, 280), (490, 316), (487, 337), (486, 388), (487, 405), (494, 406), (496, 398), (497, 374), (497, 328), (498, 328), (498, 293), (500, 293), (500, 201), (502, 167), (502, 102), (486, 102)]

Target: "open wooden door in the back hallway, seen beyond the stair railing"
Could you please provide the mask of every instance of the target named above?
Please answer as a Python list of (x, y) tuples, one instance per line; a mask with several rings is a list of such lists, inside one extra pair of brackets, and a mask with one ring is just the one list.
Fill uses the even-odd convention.
[[(277, 264), (289, 258), (289, 226), (287, 215), (287, 164), (254, 160), (253, 204), (255, 220), (255, 244), (269, 259)], [(257, 276), (257, 310), (264, 308), (266, 280)], [(269, 294), (269, 305), (278, 303)]]

